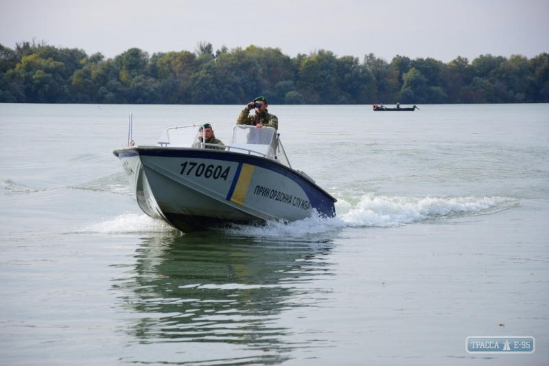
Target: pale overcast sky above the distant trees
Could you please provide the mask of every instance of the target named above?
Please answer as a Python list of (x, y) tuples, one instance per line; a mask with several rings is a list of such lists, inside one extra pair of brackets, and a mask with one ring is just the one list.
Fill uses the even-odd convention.
[(549, 52), (549, 0), (0, 0), (0, 43), (38, 41), (101, 52), (278, 47), (337, 56), (397, 54), (449, 62)]

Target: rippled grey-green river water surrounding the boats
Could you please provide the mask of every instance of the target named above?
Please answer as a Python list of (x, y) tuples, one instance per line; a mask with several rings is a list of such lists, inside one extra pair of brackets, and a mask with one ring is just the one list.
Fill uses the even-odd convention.
[[(114, 148), (241, 106), (0, 104), (2, 365), (546, 365), (549, 105), (271, 106), (337, 217), (181, 235)], [(533, 336), (468, 354), (467, 336)]]

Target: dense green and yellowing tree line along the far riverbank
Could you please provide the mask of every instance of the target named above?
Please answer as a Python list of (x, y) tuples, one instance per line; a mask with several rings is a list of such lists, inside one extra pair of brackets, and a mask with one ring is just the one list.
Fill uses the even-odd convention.
[(94, 104), (454, 104), (549, 102), (549, 54), (433, 58), (374, 54), (362, 62), (320, 49), (290, 57), (279, 48), (200, 42), (150, 56), (115, 58), (36, 40), (0, 44), (0, 102)]

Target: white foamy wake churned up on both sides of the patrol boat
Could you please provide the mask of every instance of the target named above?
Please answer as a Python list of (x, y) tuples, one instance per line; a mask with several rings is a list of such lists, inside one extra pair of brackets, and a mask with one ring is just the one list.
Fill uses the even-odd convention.
[[(396, 227), (426, 222), (450, 220), (467, 216), (495, 214), (512, 207), (519, 207), (515, 198), (509, 197), (390, 197), (365, 194), (358, 202), (342, 198), (336, 203), (335, 218), (318, 215), (295, 222), (267, 222), (266, 225), (231, 225), (217, 229), (236, 236), (261, 236), (270, 238), (306, 238), (345, 227)], [(166, 233), (177, 231), (162, 220), (145, 214), (123, 214), (78, 229), (77, 233)]]

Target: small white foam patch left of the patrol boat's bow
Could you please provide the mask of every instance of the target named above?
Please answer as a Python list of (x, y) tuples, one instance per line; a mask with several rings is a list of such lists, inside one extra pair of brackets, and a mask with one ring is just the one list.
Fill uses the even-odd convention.
[(162, 220), (142, 214), (123, 214), (72, 232), (76, 233), (165, 233), (176, 231)]

